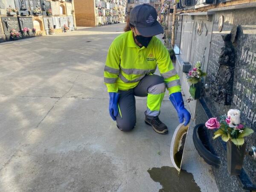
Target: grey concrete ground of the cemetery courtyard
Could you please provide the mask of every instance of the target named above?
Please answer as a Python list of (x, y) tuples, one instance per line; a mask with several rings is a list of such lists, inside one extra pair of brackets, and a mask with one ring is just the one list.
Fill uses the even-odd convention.
[[(119, 131), (108, 114), (103, 68), (123, 27), (79, 28), (0, 44), (1, 192), (162, 188), (147, 170), (172, 167), (169, 151), (178, 121), (168, 95), (160, 114), (167, 135), (145, 125), (145, 98), (137, 98), (134, 131)], [(192, 129), (186, 146), (183, 169), (201, 191), (218, 191), (192, 143)]]

